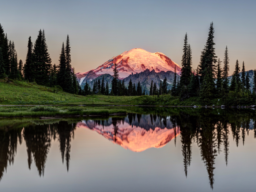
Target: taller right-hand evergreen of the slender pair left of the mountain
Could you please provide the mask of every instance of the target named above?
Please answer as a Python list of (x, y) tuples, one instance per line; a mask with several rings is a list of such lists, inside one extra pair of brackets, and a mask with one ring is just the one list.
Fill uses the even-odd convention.
[(71, 50), (70, 42), (69, 42), (69, 37), (67, 35), (66, 47), (65, 47), (66, 74), (65, 74), (65, 85), (63, 90), (68, 93), (74, 93), (70, 50)]

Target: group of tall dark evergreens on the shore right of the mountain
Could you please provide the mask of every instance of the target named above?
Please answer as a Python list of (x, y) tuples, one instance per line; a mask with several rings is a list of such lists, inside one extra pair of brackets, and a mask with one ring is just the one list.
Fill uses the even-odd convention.
[[(202, 103), (206, 105), (211, 103), (215, 98), (222, 98), (227, 105), (240, 103), (255, 103), (256, 99), (256, 70), (254, 69), (253, 89), (249, 74), (245, 73), (245, 64), (242, 63), (242, 71), (240, 77), (240, 67), (238, 60), (236, 61), (235, 71), (232, 74), (231, 82), (229, 82), (229, 57), (226, 46), (223, 60), (217, 59), (214, 48), (214, 27), (210, 25), (206, 45), (201, 52), (200, 63), (197, 69), (193, 70), (192, 51), (188, 44), (188, 36), (185, 34), (183, 55), (181, 61), (180, 81), (177, 80), (176, 69), (174, 71), (174, 80), (171, 93), (180, 97), (180, 100), (191, 97), (199, 97)], [(229, 86), (229, 83), (230, 86)]]

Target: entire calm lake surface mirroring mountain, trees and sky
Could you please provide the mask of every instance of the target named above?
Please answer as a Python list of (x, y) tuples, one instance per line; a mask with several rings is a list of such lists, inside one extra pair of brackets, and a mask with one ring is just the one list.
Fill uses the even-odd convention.
[(0, 119), (0, 191), (255, 191), (251, 109)]

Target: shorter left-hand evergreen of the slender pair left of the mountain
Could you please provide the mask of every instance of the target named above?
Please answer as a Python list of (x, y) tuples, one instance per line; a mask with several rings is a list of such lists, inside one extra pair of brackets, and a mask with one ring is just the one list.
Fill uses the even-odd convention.
[(65, 47), (64, 42), (62, 43), (61, 53), (60, 53), (60, 59), (59, 59), (59, 72), (58, 72), (58, 84), (62, 87), (63, 90), (66, 91), (66, 75), (67, 75), (67, 69), (66, 69), (66, 56), (65, 56)]

